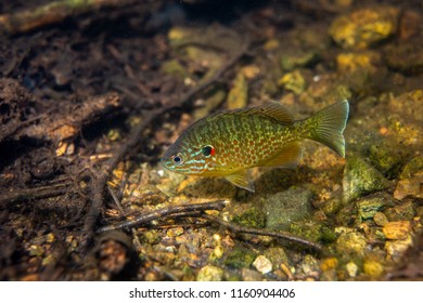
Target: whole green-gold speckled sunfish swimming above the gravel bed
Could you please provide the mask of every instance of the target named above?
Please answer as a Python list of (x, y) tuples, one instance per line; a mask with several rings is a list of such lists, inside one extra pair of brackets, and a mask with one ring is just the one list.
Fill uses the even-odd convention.
[(225, 176), (254, 192), (248, 169), (296, 167), (303, 154), (302, 140), (320, 142), (345, 157), (343, 132), (348, 111), (346, 100), (297, 121), (277, 102), (223, 110), (190, 126), (165, 153), (162, 163), (181, 174)]

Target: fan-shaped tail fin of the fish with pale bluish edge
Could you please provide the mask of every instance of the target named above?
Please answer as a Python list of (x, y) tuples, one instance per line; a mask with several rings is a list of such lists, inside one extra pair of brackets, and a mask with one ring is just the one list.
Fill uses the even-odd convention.
[(307, 119), (310, 139), (323, 143), (345, 157), (344, 130), (349, 114), (347, 100), (332, 104)]

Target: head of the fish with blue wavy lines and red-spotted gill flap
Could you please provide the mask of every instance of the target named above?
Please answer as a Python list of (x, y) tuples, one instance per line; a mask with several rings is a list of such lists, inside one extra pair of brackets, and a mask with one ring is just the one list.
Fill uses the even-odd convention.
[(213, 173), (216, 162), (213, 159), (215, 148), (207, 144), (187, 145), (177, 141), (162, 158), (162, 164), (174, 172), (190, 175)]

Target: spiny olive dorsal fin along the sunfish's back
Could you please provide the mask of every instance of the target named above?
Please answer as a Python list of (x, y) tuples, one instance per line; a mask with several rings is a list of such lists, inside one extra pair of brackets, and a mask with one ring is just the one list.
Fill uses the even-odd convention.
[(223, 110), (216, 113), (215, 115), (208, 116), (207, 119), (214, 119), (222, 115), (257, 115), (266, 118), (270, 118), (281, 124), (290, 126), (294, 122), (293, 115), (282, 104), (271, 101), (260, 106), (246, 107), (232, 110)]

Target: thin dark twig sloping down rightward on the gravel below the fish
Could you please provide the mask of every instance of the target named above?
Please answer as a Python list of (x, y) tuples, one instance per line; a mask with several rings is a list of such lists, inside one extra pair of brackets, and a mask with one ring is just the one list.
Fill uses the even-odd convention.
[(264, 229), (264, 228), (240, 226), (240, 225), (233, 224), (231, 222), (227, 222), (227, 221), (225, 221), (216, 215), (210, 215), (207, 213), (202, 213), (201, 216), (206, 219), (207, 221), (217, 223), (217, 224), (232, 230), (235, 234), (251, 234), (251, 235), (258, 235), (258, 236), (270, 236), (273, 238), (279, 238), (279, 239), (290, 241), (292, 243), (300, 245), (303, 247), (312, 249), (317, 252), (322, 251), (322, 247), (319, 243), (316, 243), (316, 242), (309, 241), (307, 239), (294, 236), (290, 233), (275, 232), (275, 230), (269, 230), (269, 229)]

